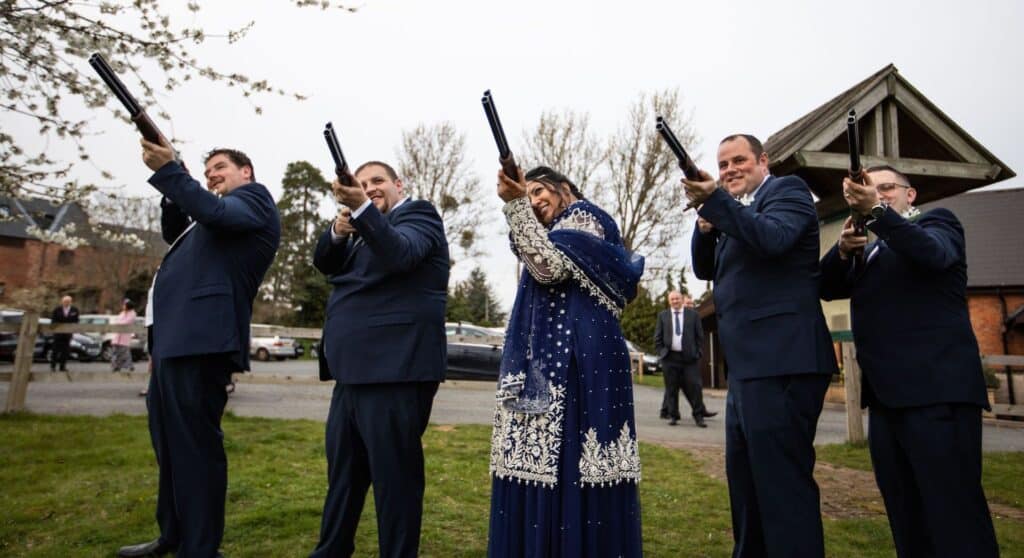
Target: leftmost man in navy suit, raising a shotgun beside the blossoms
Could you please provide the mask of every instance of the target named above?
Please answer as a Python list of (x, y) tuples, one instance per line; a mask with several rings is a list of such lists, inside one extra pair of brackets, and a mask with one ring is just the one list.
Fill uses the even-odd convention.
[(166, 145), (142, 140), (171, 243), (154, 277), (146, 403), (160, 466), (160, 538), (119, 556), (219, 556), (227, 459), (220, 418), (232, 372), (249, 369), (253, 299), (281, 242), (270, 192), (233, 149), (206, 158), (204, 189)]

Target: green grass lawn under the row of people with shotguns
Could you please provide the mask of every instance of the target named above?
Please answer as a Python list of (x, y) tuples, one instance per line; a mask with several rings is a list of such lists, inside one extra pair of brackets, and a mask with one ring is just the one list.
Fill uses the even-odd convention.
[[(489, 427), (431, 426), (424, 443), (427, 490), (421, 554), (483, 556), (490, 483)], [(312, 421), (224, 420), (228, 454), (227, 556), (306, 556), (316, 543), (327, 490), (324, 425)], [(0, 555), (112, 556), (157, 534), (157, 468), (145, 419), (115, 416), (0, 418)], [(856, 466), (858, 448), (823, 448), (822, 460)], [(850, 457), (852, 456), (852, 457)], [(725, 483), (689, 453), (641, 445), (647, 556), (728, 556)], [(986, 461), (990, 498), (1016, 501), (1020, 455)], [(1005, 461), (1004, 461), (1005, 460)], [(1024, 556), (1024, 525), (997, 520), (1004, 557)], [(894, 555), (884, 517), (825, 520), (827, 554)], [(376, 555), (368, 498), (357, 556)]]

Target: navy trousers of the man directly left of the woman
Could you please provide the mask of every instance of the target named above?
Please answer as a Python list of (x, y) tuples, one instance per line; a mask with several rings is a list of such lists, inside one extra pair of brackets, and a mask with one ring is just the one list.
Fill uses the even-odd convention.
[(336, 384), (327, 418), (328, 492), (311, 558), (351, 556), (374, 486), (382, 558), (415, 557), (423, 516), (423, 444), (438, 382)]

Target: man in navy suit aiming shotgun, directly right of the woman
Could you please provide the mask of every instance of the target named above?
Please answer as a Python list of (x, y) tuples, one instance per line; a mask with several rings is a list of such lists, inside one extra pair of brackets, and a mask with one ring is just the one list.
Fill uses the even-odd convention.
[(823, 556), (814, 434), (831, 375), (818, 302), (818, 218), (807, 184), (768, 173), (751, 135), (718, 148), (721, 187), (683, 179), (700, 205), (693, 271), (715, 282), (728, 367), (725, 457), (733, 556)]

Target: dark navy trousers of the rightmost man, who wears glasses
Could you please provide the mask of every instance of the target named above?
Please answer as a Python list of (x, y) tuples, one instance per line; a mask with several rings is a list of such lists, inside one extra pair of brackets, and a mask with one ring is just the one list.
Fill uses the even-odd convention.
[(900, 557), (999, 555), (981, 487), (981, 409), (872, 405), (868, 443)]

